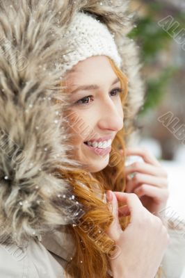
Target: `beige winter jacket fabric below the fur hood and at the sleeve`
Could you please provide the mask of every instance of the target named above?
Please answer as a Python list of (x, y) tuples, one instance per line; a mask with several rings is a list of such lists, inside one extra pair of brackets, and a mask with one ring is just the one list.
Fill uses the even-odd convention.
[[(184, 278), (184, 231), (169, 229), (169, 234), (170, 245), (161, 262), (161, 278)], [(16, 245), (0, 246), (1, 278), (65, 278), (65, 263), (74, 254), (74, 243), (65, 229), (42, 237), (41, 242), (30, 240), (24, 250)]]

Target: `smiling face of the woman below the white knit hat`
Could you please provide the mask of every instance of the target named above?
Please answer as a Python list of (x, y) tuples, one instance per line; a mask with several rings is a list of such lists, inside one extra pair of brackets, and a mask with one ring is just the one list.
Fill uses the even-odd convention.
[(74, 159), (99, 172), (108, 165), (111, 142), (123, 126), (120, 81), (106, 56), (80, 61), (65, 81), (72, 104), (67, 118)]

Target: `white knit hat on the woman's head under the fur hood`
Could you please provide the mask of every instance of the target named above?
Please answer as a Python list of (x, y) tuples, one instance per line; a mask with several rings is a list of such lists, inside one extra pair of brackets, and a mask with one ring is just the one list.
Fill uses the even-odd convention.
[(63, 55), (64, 62), (58, 65), (62, 76), (80, 60), (85, 60), (90, 56), (108, 56), (113, 59), (115, 65), (120, 67), (122, 59), (118, 54), (113, 35), (108, 27), (95, 19), (93, 15), (78, 12), (63, 36), (66, 38), (66, 47), (69, 52)]

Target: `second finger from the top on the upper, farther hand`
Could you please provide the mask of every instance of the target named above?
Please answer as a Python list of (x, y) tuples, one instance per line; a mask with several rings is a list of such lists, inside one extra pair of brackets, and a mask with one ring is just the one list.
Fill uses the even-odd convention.
[(140, 172), (143, 174), (151, 174), (156, 177), (165, 177), (167, 178), (167, 173), (163, 168), (150, 165), (148, 163), (140, 163), (138, 161), (132, 163), (131, 165), (124, 167), (124, 173), (126, 175), (133, 172)]

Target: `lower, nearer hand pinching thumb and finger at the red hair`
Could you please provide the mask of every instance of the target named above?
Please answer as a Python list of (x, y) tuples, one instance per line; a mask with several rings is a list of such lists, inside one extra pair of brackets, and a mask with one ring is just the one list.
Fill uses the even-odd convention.
[[(168, 247), (170, 237), (161, 220), (147, 211), (134, 193), (108, 191), (114, 220), (107, 234), (119, 247), (109, 258), (114, 278), (154, 278)], [(120, 206), (118, 201), (126, 203)], [(119, 215), (131, 215), (122, 231)], [(156, 244), (157, 243), (157, 244)]]

